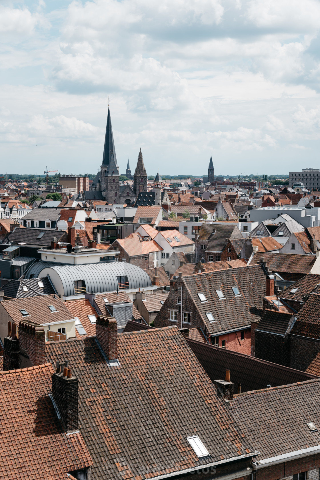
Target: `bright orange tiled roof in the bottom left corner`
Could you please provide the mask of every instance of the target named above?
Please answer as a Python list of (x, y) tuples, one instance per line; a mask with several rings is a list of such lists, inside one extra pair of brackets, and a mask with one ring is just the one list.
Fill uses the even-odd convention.
[(61, 480), (92, 465), (81, 433), (61, 429), (48, 396), (53, 372), (50, 363), (0, 372), (2, 479)]

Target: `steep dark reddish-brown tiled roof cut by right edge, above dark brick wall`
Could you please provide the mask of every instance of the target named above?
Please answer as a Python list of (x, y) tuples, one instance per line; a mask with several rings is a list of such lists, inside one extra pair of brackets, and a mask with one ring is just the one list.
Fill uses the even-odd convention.
[(320, 294), (313, 293), (298, 313), (291, 332), (294, 335), (320, 338)]

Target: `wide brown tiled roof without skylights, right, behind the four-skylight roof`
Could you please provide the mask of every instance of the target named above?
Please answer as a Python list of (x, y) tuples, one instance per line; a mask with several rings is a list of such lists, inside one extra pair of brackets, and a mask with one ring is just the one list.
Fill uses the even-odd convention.
[(272, 253), (265, 252), (263, 254), (257, 252), (253, 256), (250, 265), (260, 262), (260, 258), (263, 257), (267, 266), (272, 272), (286, 273), (302, 273), (307, 275), (316, 257), (314, 255), (296, 255), (294, 253)]

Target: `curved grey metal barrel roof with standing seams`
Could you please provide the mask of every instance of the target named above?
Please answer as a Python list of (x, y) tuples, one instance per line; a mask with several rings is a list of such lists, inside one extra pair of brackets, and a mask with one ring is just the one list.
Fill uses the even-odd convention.
[(46, 267), (51, 268), (59, 275), (66, 296), (74, 295), (74, 280), (84, 280), (87, 292), (93, 293), (117, 290), (118, 276), (128, 277), (128, 288), (152, 286), (150, 276), (142, 268), (122, 262), (83, 265), (45, 265), (43, 263), (42, 268)]

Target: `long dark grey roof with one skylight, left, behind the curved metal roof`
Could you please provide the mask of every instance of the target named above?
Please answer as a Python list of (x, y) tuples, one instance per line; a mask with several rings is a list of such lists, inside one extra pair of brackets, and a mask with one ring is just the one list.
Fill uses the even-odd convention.
[[(41, 232), (44, 235), (38, 238)], [(54, 230), (53, 228), (16, 228), (8, 233), (6, 240), (10, 243), (24, 242), (27, 245), (39, 245), (41, 247), (51, 247), (51, 241), (56, 237), (58, 241), (68, 241), (66, 232)]]

